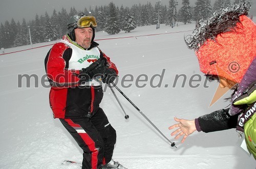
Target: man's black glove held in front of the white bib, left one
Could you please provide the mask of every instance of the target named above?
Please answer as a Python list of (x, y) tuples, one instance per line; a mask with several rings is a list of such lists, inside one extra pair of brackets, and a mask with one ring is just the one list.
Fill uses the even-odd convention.
[(80, 70), (80, 74), (78, 75), (78, 78), (80, 78), (80, 83), (89, 81), (92, 79), (96, 74), (103, 77), (103, 74), (106, 70), (105, 67), (105, 59), (98, 59), (96, 62), (92, 63), (87, 68), (82, 68)]

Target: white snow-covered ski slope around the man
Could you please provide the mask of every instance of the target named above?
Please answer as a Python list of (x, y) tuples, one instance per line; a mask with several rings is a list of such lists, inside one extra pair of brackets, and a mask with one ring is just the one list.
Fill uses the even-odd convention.
[[(187, 137), (185, 143), (174, 140), (168, 130), (175, 124), (174, 116), (195, 119), (211, 111), (228, 106), (222, 97), (213, 106), (208, 107), (218, 84), (207, 82), (204, 88), (204, 76), (200, 73), (197, 58), (193, 50), (184, 43), (184, 35), (191, 33), (195, 24), (180, 24), (178, 27), (156, 25), (137, 27), (131, 33), (121, 32), (108, 35), (96, 33), (97, 39), (132, 37), (96, 41), (100, 48), (119, 68), (118, 87), (129, 97), (172, 142), (171, 147), (148, 123), (139, 112), (115, 90), (129, 120), (124, 119), (111, 90), (106, 88), (101, 107), (117, 131), (117, 143), (114, 160), (125, 167), (142, 169), (162, 168), (255, 168), (254, 158), (245, 154), (237, 146), (239, 140), (235, 129), (203, 133), (195, 132)], [(186, 31), (186, 32), (184, 32)], [(172, 34), (164, 34), (172, 33)], [(154, 36), (141, 36), (163, 34)], [(33, 47), (55, 42), (33, 44)], [(5, 52), (28, 49), (28, 46), (6, 49)], [(0, 168), (79, 168), (76, 165), (63, 166), (65, 159), (82, 161), (82, 151), (58, 119), (53, 119), (49, 106), (49, 88), (36, 88), (34, 82), (26, 88), (25, 78), (22, 88), (18, 88), (17, 74), (36, 74), (40, 78), (45, 74), (44, 59), (51, 46), (0, 55), (1, 77), (1, 158)], [(160, 88), (150, 86), (154, 74), (165, 69)], [(120, 79), (132, 74), (134, 79), (141, 74), (148, 76), (147, 82), (139, 82), (144, 88), (136, 87), (133, 82), (124, 82), (130, 88), (124, 88)], [(182, 88), (180, 78), (173, 88), (175, 75), (185, 74), (187, 80)], [(198, 88), (189, 87), (189, 78), (194, 74), (202, 76)], [(33, 79), (33, 78), (32, 78)], [(126, 77), (126, 79), (129, 79)], [(140, 79), (143, 79), (141, 77)], [(196, 78), (195, 78), (196, 79)], [(33, 81), (33, 80), (32, 80)], [(41, 80), (40, 80), (41, 81)], [(159, 77), (154, 78), (157, 85)], [(48, 84), (48, 83), (46, 83)], [(166, 88), (165, 85), (168, 85)]]

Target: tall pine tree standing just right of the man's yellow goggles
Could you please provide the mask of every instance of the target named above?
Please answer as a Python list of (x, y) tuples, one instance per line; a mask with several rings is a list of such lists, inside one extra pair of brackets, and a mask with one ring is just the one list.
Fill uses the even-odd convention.
[(108, 21), (105, 25), (105, 32), (109, 35), (118, 34), (120, 32), (120, 29), (118, 26), (116, 6), (113, 2), (109, 4), (109, 12), (109, 17), (107, 19)]

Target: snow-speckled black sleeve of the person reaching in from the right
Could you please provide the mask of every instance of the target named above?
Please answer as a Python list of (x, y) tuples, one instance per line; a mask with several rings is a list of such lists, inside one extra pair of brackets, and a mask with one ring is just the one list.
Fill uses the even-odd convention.
[(200, 128), (203, 132), (213, 132), (236, 128), (238, 116), (230, 116), (227, 109), (220, 109), (198, 118)]

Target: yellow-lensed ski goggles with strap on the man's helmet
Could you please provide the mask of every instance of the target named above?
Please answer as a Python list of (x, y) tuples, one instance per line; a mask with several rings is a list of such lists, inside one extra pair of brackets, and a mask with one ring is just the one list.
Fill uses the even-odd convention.
[(77, 22), (68, 25), (68, 29), (71, 27), (85, 28), (85, 27), (97, 27), (97, 22), (94, 16), (82, 16)]

